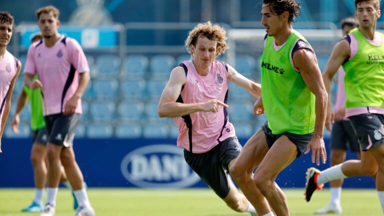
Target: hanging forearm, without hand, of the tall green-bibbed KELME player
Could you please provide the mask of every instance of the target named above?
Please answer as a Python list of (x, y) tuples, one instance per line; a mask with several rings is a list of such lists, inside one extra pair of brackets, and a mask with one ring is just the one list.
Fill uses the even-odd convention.
[(313, 136), (321, 137), (323, 136), (324, 124), (325, 124), (325, 115), (326, 115), (326, 106), (328, 103), (328, 96), (325, 90), (320, 91), (315, 95), (315, 121), (314, 121), (314, 131)]

